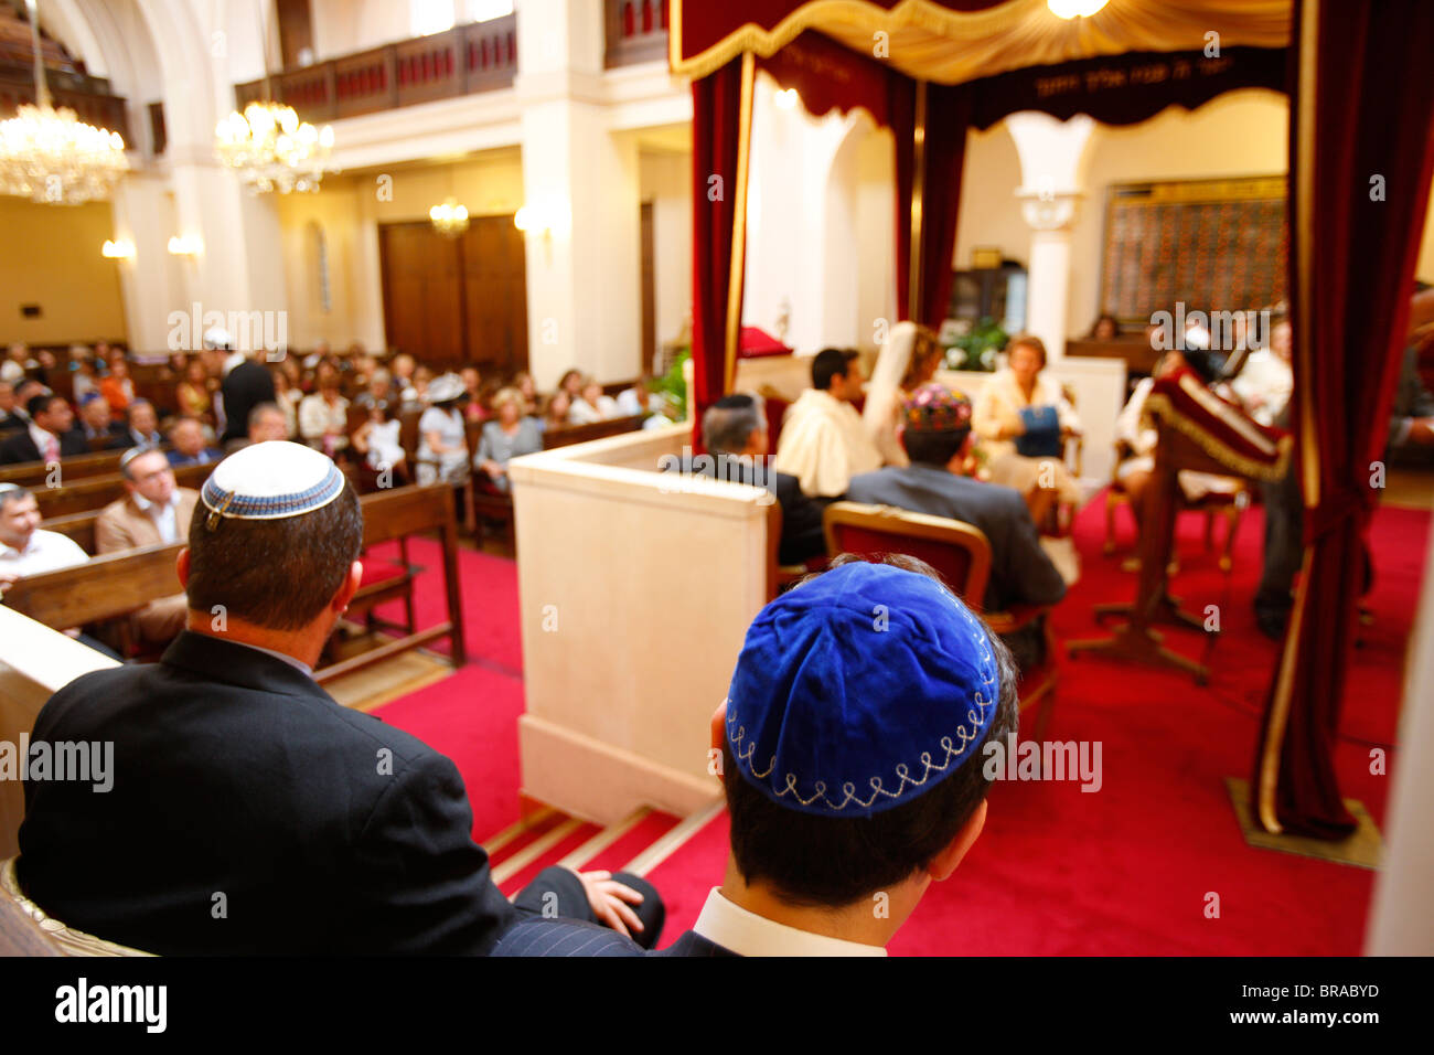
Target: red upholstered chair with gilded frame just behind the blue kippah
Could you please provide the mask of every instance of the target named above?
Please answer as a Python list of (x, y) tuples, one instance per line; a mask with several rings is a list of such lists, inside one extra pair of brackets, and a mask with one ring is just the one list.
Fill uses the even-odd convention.
[[(951, 591), (974, 611), (981, 611), (991, 577), (991, 541), (979, 528), (959, 520), (860, 502), (832, 502), (822, 515), (822, 525), (829, 557), (842, 553), (868, 558), (892, 553), (916, 557), (935, 568)], [(1008, 611), (981, 613), (981, 617), (994, 633), (1011, 634), (1032, 626), (1050, 610), (1050, 604), (1021, 604)], [(1045, 738), (1060, 673), (1060, 643), (1050, 619), (1043, 622), (1043, 633), (1045, 660), (1032, 670), (1022, 670), (1017, 685), (1022, 712), (1041, 705), (1035, 721), (1037, 742)]]

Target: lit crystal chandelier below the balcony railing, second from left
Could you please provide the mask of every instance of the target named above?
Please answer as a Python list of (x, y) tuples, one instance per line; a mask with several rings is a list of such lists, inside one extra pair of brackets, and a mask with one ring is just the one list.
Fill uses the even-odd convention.
[(293, 106), (251, 102), (215, 128), (215, 155), (255, 194), (318, 191), (334, 129), (300, 122)]

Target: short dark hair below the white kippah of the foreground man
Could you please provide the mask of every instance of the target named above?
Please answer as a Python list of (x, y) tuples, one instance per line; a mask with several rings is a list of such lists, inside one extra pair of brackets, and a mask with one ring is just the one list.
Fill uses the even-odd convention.
[(344, 584), (363, 543), (363, 512), (351, 485), (328, 505), (282, 520), (219, 520), (195, 502), (189, 520), (189, 607), (270, 630), (297, 630)]

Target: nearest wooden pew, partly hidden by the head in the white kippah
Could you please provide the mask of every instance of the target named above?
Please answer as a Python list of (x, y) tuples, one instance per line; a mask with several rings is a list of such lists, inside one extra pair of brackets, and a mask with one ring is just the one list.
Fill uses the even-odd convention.
[[(350, 604), (350, 611), (370, 616), (376, 606), (402, 599), (409, 609), (407, 624), (377, 622), (383, 629), (399, 629), (404, 633), (376, 649), (320, 669), (315, 673), (315, 680), (323, 683), (440, 637), (449, 639), (453, 665), (462, 666), (466, 662), (466, 650), (457, 581), (457, 522), (453, 517), (452, 488), (445, 484), (393, 488), (364, 495), (358, 501), (364, 520), (364, 550), (367, 551), (380, 543), (397, 541), (402, 571), (397, 576), (374, 577), (369, 584), (361, 586)], [(50, 521), (49, 527), (50, 530), (67, 527), (67, 534), (75, 538), (83, 534), (83, 525), (85, 515), (75, 515), (63, 522)], [(89, 522), (89, 531), (93, 544), (93, 520)], [(413, 624), (412, 590), (417, 568), (409, 560), (406, 545), (406, 540), (417, 534), (433, 534), (442, 544), (447, 600), (447, 619), (423, 630)], [(175, 560), (181, 548), (184, 548), (182, 543), (174, 543), (143, 550), (126, 550), (95, 557), (86, 564), (70, 568), (27, 576), (6, 591), (4, 604), (56, 630), (129, 616), (151, 601), (178, 593)]]

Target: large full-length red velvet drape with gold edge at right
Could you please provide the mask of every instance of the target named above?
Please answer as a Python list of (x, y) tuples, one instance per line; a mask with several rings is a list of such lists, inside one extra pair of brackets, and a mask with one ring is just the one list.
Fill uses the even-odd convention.
[[(1354, 830), (1334, 772), (1345, 662), (1434, 171), (1434, 4), (1304, 0), (1289, 119), (1292, 426), (1305, 568), (1255, 759), (1269, 831)], [(1378, 554), (1375, 554), (1378, 561)]]

